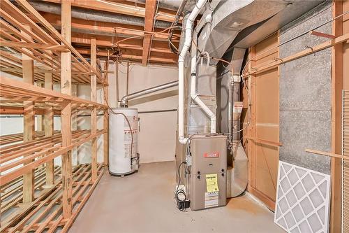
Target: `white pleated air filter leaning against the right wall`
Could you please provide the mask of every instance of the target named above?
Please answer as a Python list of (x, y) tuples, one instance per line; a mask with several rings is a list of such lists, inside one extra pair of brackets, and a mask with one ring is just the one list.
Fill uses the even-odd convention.
[(328, 232), (330, 176), (279, 161), (274, 222), (291, 233)]

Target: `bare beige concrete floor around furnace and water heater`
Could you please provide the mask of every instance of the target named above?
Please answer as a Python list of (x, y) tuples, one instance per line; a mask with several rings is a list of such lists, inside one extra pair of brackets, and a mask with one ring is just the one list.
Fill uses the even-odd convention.
[(274, 214), (248, 195), (225, 207), (179, 211), (174, 185), (174, 162), (142, 164), (124, 178), (106, 172), (69, 232), (284, 232)]

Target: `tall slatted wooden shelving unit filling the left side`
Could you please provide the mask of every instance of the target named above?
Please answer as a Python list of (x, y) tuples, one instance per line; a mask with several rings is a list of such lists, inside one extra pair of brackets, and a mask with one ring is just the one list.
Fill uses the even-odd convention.
[[(0, 76), (0, 114), (23, 115), (24, 132), (0, 136), (0, 232), (67, 232), (107, 164), (107, 76), (98, 66), (96, 39), (89, 62), (71, 45), (70, 4), (61, 1), (59, 32), (27, 1), (1, 1), (0, 70), (12, 77)], [(90, 100), (72, 95), (79, 84), (91, 85)], [(97, 88), (103, 103), (96, 101)], [(79, 111), (91, 112), (91, 129), (72, 129)], [(35, 131), (35, 115), (42, 115), (43, 130)], [(61, 116), (59, 131), (54, 115)], [(97, 163), (102, 135), (104, 161)], [(91, 164), (73, 167), (71, 151), (87, 142)], [(61, 166), (54, 166), (56, 157)]]

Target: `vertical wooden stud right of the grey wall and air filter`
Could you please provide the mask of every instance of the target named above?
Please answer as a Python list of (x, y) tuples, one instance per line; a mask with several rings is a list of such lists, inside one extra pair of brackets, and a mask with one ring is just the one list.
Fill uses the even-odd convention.
[[(333, 1), (332, 17), (343, 13), (343, 1)], [(332, 34), (343, 35), (343, 18), (332, 22)], [(334, 40), (336, 40), (335, 38)], [(331, 152), (342, 153), (342, 90), (343, 90), (343, 43), (332, 47), (332, 107), (331, 107)], [(331, 209), (329, 216), (329, 232), (341, 232), (341, 171), (342, 160), (331, 157)]]

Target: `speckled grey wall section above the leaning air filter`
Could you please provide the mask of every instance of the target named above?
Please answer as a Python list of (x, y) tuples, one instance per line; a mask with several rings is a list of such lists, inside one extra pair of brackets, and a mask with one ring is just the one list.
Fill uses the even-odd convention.
[[(332, 18), (331, 1), (283, 27), (281, 43)], [(332, 33), (332, 23), (316, 29)], [(327, 38), (306, 34), (280, 47), (287, 57)], [(280, 160), (330, 173), (329, 157), (304, 150), (331, 149), (331, 49), (316, 52), (280, 66)]]

